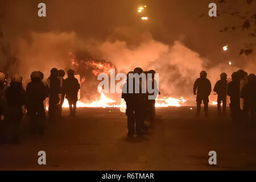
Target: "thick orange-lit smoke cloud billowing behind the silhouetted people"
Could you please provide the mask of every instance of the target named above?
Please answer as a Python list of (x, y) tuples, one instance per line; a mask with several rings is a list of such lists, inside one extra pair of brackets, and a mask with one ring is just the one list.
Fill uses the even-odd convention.
[[(11, 65), (1, 65), (1, 69), (7, 68), (10, 75), (19, 73), (25, 80), (29, 79), (32, 71), (42, 71), (47, 78), (54, 67), (65, 71), (75, 69), (81, 78), (85, 78), (81, 89), (84, 102), (99, 96), (97, 75), (109, 73), (110, 68), (119, 73), (127, 73), (135, 67), (154, 69), (159, 73), (161, 97), (183, 96), (187, 100), (195, 99), (192, 86), (200, 71), (208, 72), (214, 86), (221, 72), (230, 76), (238, 69), (230, 66), (229, 60), (209, 68), (212, 60), (201, 57), (179, 40), (167, 45), (156, 41), (149, 33), (138, 33), (132, 36), (133, 40), (127, 36), (130, 34), (129, 31), (115, 31), (100, 42), (79, 38), (75, 32), (31, 32), (28, 38), (19, 38), (10, 46), (9, 52), (13, 53), (15, 61), (7, 61)], [(134, 41), (134, 38), (139, 41)], [(250, 65), (253, 61), (249, 61), (248, 68), (255, 69)], [(246, 71), (250, 73), (253, 70)], [(120, 98), (118, 94), (109, 97)]]

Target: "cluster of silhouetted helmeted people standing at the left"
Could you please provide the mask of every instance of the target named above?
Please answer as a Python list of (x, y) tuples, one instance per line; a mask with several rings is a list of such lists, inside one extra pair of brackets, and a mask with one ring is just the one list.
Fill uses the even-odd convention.
[[(77, 93), (80, 89), (79, 81), (75, 78), (74, 71), (68, 70), (68, 77), (64, 79), (65, 72), (52, 68), (51, 76), (43, 81), (44, 75), (40, 71), (31, 73), (31, 81), (26, 90), (22, 86), (22, 76), (11, 76), (7, 81), (4, 73), (0, 72), (0, 121), (6, 125), (0, 127), (0, 143), (20, 142), (20, 122), (27, 115), (30, 118), (31, 134), (43, 135), (46, 119), (46, 100), (49, 102), (49, 121), (56, 122), (61, 117), (61, 109), (66, 97), (69, 103), (71, 116), (76, 115)], [(10, 134), (4, 130), (10, 129)]]

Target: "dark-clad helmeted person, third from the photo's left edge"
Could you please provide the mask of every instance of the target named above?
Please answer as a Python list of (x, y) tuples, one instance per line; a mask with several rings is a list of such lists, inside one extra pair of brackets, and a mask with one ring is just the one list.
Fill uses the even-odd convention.
[[(38, 75), (36, 75), (38, 73)], [(27, 85), (27, 114), (31, 119), (31, 132), (35, 134), (38, 130), (44, 134), (44, 120), (46, 111), (44, 110), (44, 100), (47, 97), (47, 87), (43, 84), (39, 72), (31, 74), (31, 82)], [(33, 75), (34, 74), (34, 75)]]

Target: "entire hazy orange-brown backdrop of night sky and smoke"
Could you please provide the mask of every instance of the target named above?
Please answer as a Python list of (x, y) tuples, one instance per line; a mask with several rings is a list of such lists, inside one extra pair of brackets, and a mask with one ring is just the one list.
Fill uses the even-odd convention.
[[(226, 26), (241, 26), (242, 19), (199, 18), (208, 14), (210, 2), (217, 1), (51, 0), (43, 1), (47, 16), (39, 18), (40, 2), (0, 0), (0, 71), (27, 79), (35, 70), (48, 77), (53, 67), (73, 68), (85, 78), (83, 100), (99, 96), (97, 75), (110, 68), (123, 73), (135, 67), (155, 69), (162, 96), (188, 100), (194, 99), (192, 85), (203, 69), (212, 86), (221, 72), (229, 77), (241, 68), (256, 72), (256, 51), (239, 55), (243, 43), (252, 38), (241, 30), (220, 32)], [(255, 3), (234, 1), (218, 4), (217, 9), (255, 12)], [(137, 13), (140, 5), (147, 5), (142, 14), (147, 22)], [(223, 51), (226, 45), (228, 51)]]

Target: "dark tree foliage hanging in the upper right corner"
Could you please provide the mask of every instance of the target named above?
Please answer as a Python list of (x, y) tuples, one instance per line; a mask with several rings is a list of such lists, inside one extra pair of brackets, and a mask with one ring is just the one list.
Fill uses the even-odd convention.
[[(247, 4), (247, 6), (255, 6), (255, 0), (218, 0), (219, 4), (234, 4), (237, 1), (244, 1), (244, 3)], [(218, 6), (217, 6), (218, 7)], [(219, 14), (220, 13), (220, 14)], [(245, 12), (241, 13), (240, 11), (236, 10), (234, 7), (228, 8), (226, 10), (223, 10), (222, 12), (217, 11), (217, 17), (218, 16), (224, 16), (224, 15), (230, 15), (234, 18), (241, 20), (240, 26), (226, 26), (220, 30), (220, 32), (228, 32), (228, 31), (242, 31), (242, 36), (245, 38), (250, 38), (250, 41), (243, 44), (240, 50), (240, 55), (250, 55), (253, 52), (253, 48), (256, 46), (256, 12)], [(199, 17), (207, 16), (206, 14), (201, 14)], [(214, 18), (214, 17), (212, 17)]]

